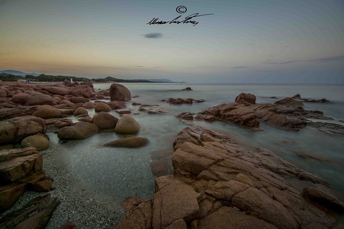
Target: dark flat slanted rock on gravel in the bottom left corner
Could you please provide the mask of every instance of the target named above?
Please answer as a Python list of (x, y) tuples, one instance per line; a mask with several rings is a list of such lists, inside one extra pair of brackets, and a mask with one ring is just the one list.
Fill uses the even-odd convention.
[(8, 228), (43, 229), (59, 203), (57, 198), (51, 198), (47, 194), (30, 200), (23, 208), (8, 213), (2, 220)]

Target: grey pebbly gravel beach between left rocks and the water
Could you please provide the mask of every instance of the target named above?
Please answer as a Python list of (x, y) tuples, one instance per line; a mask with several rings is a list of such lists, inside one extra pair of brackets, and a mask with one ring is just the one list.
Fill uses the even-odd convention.
[[(55, 189), (49, 193), (61, 202), (47, 229), (59, 229), (67, 221), (76, 224), (78, 229), (111, 229), (122, 220), (125, 214), (123, 208), (114, 201), (87, 191), (76, 179), (77, 176), (68, 170), (56, 143), (51, 142), (49, 148), (40, 152), (43, 154), (44, 171), (54, 178)], [(1, 213), (0, 218), (32, 198), (45, 194), (27, 191), (10, 209)]]

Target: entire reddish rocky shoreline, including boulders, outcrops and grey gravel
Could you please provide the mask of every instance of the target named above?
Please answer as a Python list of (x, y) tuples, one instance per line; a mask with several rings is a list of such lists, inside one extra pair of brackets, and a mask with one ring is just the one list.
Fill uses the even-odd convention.
[[(123, 218), (123, 209), (83, 188), (77, 176), (68, 171), (58, 145), (50, 143), (47, 132), (57, 133), (61, 141), (84, 141), (99, 131), (108, 131), (122, 138), (101, 143), (102, 147), (142, 147), (149, 141), (136, 136), (140, 124), (130, 110), (118, 110), (132, 98), (130, 91), (119, 84), (96, 91), (85, 79), (81, 85), (68, 81), (49, 86), (0, 82), (0, 92), (0, 228), (30, 222), (35, 222), (34, 228), (60, 228), (66, 222), (62, 228), (74, 228), (73, 224), (78, 228), (116, 226)], [(261, 131), (260, 121), (293, 131), (310, 124), (328, 134), (344, 135), (341, 125), (309, 121), (307, 118), (332, 118), (304, 110), (302, 102), (295, 100), (300, 98), (256, 104), (255, 95), (241, 93), (233, 103), (176, 116), (227, 120), (253, 131)], [(204, 100), (170, 98), (167, 102)], [(170, 112), (159, 105), (133, 105), (141, 105), (139, 111), (154, 115)], [(94, 109), (96, 114), (90, 117), (87, 109)], [(108, 113), (112, 110), (121, 117)], [(73, 123), (68, 115), (79, 122)], [(248, 151), (229, 136), (197, 126), (182, 130), (173, 146), (172, 175), (156, 178), (153, 200), (123, 201), (127, 212), (116, 228), (344, 227), (338, 220), (343, 220), (344, 204), (326, 187), (327, 182), (271, 151)], [(156, 162), (160, 175), (169, 171), (163, 168), (164, 163)], [(49, 195), (31, 200), (47, 192)], [(31, 203), (25, 205), (29, 200)], [(15, 210), (19, 206), (22, 210)], [(16, 220), (18, 217), (21, 220)], [(228, 222), (228, 218), (233, 220)]]

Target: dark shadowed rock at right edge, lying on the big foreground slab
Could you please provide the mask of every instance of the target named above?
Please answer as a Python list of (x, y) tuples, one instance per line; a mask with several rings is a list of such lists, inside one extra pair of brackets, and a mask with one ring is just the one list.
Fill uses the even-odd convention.
[(306, 196), (314, 202), (320, 203), (339, 212), (344, 211), (344, 203), (337, 199), (332, 191), (324, 185), (315, 184), (304, 190)]

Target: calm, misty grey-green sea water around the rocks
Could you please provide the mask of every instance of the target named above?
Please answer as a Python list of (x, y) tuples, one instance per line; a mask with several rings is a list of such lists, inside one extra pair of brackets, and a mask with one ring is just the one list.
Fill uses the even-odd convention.
[[(101, 194), (104, 198), (120, 202), (129, 196), (143, 199), (153, 197), (154, 175), (150, 169), (151, 152), (172, 148), (177, 133), (189, 123), (184, 123), (175, 114), (181, 112), (198, 113), (208, 107), (221, 103), (233, 102), (241, 92), (257, 96), (257, 103), (273, 103), (279, 99), (300, 94), (302, 98), (326, 98), (331, 103), (305, 103), (306, 110), (319, 110), (327, 116), (344, 120), (344, 85), (292, 85), (292, 84), (123, 84), (132, 96), (137, 98), (127, 102), (127, 109), (137, 113), (142, 104), (158, 104), (171, 109), (168, 114), (140, 114), (134, 118), (140, 123), (141, 130), (137, 136), (149, 139), (150, 143), (142, 148), (104, 148), (107, 143), (122, 136), (115, 133), (99, 133), (87, 140), (62, 142), (55, 134), (50, 134), (51, 141), (60, 144), (61, 155), (70, 169), (83, 181), (86, 188)], [(108, 89), (111, 84), (95, 84), (96, 90)], [(191, 87), (192, 91), (182, 90)], [(204, 99), (204, 103), (171, 105), (162, 102), (168, 98)], [(88, 110), (93, 116), (94, 111)], [(115, 111), (110, 114), (119, 118)], [(70, 118), (77, 121), (73, 116)], [(342, 123), (336, 121), (336, 123)], [(344, 137), (330, 136), (314, 127), (307, 126), (299, 132), (290, 132), (261, 123), (263, 132), (251, 132), (248, 128), (229, 122), (191, 121), (191, 124), (206, 127), (228, 134), (237, 142), (253, 149), (256, 146), (267, 148), (291, 162), (312, 172), (330, 183), (334, 192), (344, 200)], [(344, 124), (344, 123), (342, 123)], [(293, 143), (285, 144), (282, 141)], [(312, 155), (304, 158), (299, 154)]]

